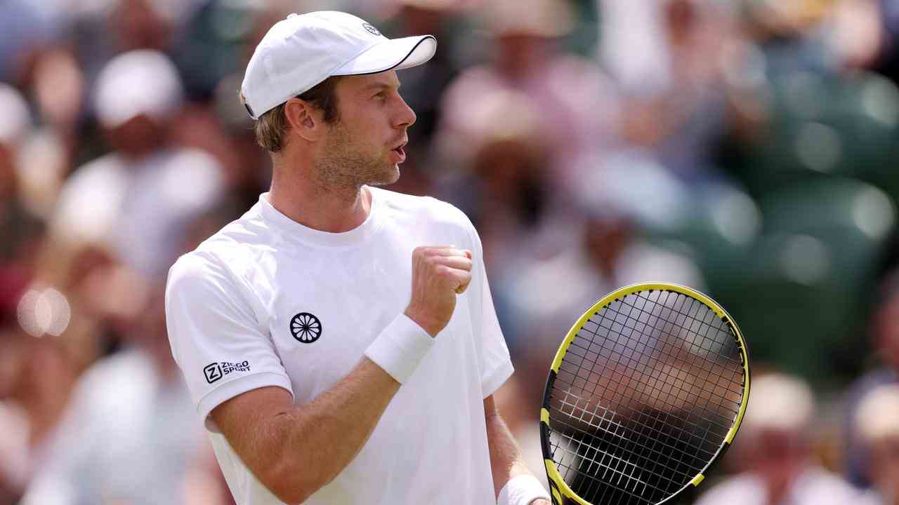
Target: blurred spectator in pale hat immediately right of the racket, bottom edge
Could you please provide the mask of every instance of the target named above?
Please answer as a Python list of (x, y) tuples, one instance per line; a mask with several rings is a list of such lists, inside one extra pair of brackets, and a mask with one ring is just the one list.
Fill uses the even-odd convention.
[(796, 377), (770, 374), (752, 380), (740, 429), (741, 474), (726, 478), (697, 505), (837, 505), (858, 493), (811, 459), (814, 396)]

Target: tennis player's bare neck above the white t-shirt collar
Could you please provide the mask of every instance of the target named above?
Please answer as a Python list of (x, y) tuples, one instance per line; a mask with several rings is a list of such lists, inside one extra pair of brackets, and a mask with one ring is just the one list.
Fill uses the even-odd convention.
[(300, 225), (330, 233), (360, 226), (371, 211), (370, 191), (360, 187), (323, 187), (307, 170), (274, 164), (269, 203)]

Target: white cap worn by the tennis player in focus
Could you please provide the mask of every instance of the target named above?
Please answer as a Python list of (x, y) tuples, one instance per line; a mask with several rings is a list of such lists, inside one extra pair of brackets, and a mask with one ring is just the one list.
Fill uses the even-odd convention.
[(422, 65), (434, 56), (432, 35), (387, 39), (348, 13), (290, 14), (276, 22), (256, 46), (240, 93), (258, 120), (283, 102), (332, 75), (378, 74)]

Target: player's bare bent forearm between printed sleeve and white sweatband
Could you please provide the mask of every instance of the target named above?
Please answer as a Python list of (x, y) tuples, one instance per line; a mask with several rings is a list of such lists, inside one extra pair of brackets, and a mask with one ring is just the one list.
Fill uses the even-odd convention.
[[(368, 358), (315, 400), (276, 416), (279, 462), (265, 483), (280, 499), (301, 502), (334, 480), (359, 454), (400, 384)], [(272, 489), (275, 488), (275, 489)]]

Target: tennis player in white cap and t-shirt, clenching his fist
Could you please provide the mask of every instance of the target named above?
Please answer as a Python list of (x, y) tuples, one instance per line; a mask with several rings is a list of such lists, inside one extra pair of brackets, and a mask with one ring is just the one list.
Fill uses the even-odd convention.
[(435, 49), (291, 14), (247, 66), (271, 191), (166, 289), (174, 358), (241, 505), (548, 504), (494, 405), (512, 363), (474, 226), (373, 187), (399, 177), (415, 121), (396, 70)]

